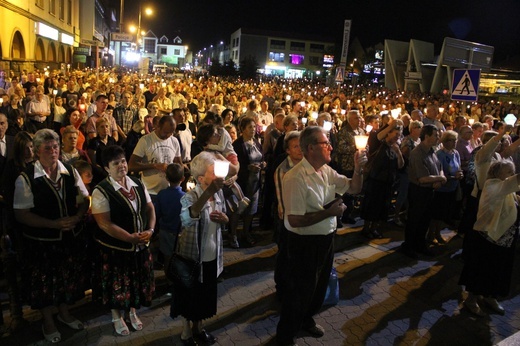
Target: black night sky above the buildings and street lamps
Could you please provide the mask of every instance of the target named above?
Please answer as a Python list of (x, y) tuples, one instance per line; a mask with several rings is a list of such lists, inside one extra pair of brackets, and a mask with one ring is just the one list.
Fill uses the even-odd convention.
[[(179, 1), (142, 0), (154, 8), (141, 27), (157, 36), (179, 35), (190, 50), (229, 41), (240, 27), (318, 34), (342, 43), (343, 21), (352, 19), (351, 42), (363, 47), (386, 39), (418, 39), (441, 49), (444, 37), (495, 47), (494, 61), (520, 55), (519, 0)], [(125, 1), (124, 26), (137, 24), (138, 1)]]

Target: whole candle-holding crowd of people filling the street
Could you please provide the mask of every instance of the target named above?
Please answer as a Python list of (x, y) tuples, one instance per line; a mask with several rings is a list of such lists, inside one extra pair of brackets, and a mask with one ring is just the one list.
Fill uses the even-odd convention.
[[(441, 230), (457, 229), (465, 306), (479, 316), (482, 304), (504, 313), (496, 298), (508, 292), (518, 233), (519, 127), (504, 123), (518, 116), (514, 103), (115, 70), (0, 71), (0, 85), (12, 330), (24, 325), (24, 303), (41, 311), (52, 343), (61, 340), (56, 307), (58, 322), (83, 329), (68, 306), (88, 288), (116, 334), (141, 330), (154, 266), (184, 253), (201, 274), (193, 288), (174, 283), (171, 316), (183, 318), (185, 345), (214, 343), (202, 320), (216, 314), (223, 251), (256, 246), (255, 215), (279, 249), (279, 345), (294, 344), (299, 330), (324, 334), (312, 316), (325, 296), (334, 234), (360, 218), (361, 234), (375, 239), (393, 214), (411, 258), (434, 255), (446, 242)], [(198, 241), (186, 241), (189, 232)]]

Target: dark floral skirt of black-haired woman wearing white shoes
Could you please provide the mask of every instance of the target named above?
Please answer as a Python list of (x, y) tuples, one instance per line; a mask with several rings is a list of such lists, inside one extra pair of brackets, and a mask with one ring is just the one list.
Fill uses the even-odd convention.
[(148, 248), (118, 251), (99, 245), (93, 298), (109, 309), (150, 306), (155, 293), (153, 259)]

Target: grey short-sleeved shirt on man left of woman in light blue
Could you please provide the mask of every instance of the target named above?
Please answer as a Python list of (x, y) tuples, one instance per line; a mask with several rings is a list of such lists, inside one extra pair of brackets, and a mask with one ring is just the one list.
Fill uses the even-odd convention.
[[(430, 175), (440, 175), (442, 167), (439, 159), (435, 155), (433, 148), (421, 143), (410, 153), (408, 178), (410, 183), (427, 186), (419, 183), (419, 178)], [(432, 186), (432, 184), (429, 184)]]

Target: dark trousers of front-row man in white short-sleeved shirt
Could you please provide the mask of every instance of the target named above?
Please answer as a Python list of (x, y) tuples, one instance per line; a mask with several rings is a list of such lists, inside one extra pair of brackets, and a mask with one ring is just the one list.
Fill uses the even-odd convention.
[(334, 233), (298, 235), (287, 232), (287, 280), (280, 321), (276, 329), (278, 345), (292, 344), (300, 329), (315, 325), (334, 256)]

